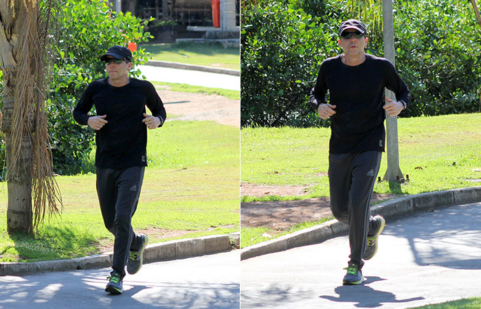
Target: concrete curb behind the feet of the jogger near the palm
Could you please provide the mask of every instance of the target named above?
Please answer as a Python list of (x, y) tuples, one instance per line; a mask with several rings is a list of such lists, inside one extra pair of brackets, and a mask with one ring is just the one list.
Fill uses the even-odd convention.
[[(230, 251), (233, 247), (238, 248), (239, 240), (240, 232), (237, 232), (229, 235), (205, 236), (149, 244), (144, 251), (144, 263), (192, 258), (199, 255)], [(0, 276), (109, 267), (112, 265), (112, 257), (113, 252), (107, 252), (71, 260), (27, 263), (3, 262), (0, 263)]]

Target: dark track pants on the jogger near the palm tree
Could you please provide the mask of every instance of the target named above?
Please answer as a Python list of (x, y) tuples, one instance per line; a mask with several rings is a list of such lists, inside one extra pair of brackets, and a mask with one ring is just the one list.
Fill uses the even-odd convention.
[(137, 251), (142, 237), (132, 229), (131, 219), (137, 209), (144, 179), (143, 166), (133, 168), (97, 168), (97, 194), (105, 227), (115, 236), (112, 268), (122, 277), (128, 253)]

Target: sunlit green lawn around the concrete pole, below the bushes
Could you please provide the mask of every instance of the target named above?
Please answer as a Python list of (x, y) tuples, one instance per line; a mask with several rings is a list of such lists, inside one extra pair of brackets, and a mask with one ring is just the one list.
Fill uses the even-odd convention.
[[(481, 114), (400, 118), (401, 171), (410, 181), (376, 183), (379, 194), (418, 194), (481, 185)], [(328, 196), (329, 128), (243, 128), (240, 181), (258, 185), (305, 185), (303, 196), (243, 196), (241, 202)], [(384, 175), (383, 154), (379, 176)], [(315, 225), (315, 222), (304, 226)], [(242, 228), (241, 247), (267, 240), (265, 231)], [(290, 233), (291, 231), (289, 231)]]

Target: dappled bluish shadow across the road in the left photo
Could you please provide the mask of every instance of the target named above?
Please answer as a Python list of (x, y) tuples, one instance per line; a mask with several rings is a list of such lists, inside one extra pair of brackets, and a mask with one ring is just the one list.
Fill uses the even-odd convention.
[[(124, 293), (104, 292), (106, 271), (71, 271), (3, 277), (0, 308), (218, 308), (239, 306), (239, 284), (135, 281), (124, 278)], [(107, 273), (108, 275), (108, 273)]]

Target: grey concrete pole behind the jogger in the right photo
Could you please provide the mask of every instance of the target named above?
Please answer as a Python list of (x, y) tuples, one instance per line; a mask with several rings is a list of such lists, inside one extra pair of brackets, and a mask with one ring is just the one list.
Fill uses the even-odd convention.
[[(383, 0), (383, 39), (384, 57), (394, 65), (394, 20), (392, 15), (392, 0)], [(394, 93), (385, 89), (385, 95), (396, 101)], [(388, 170), (383, 180), (390, 182), (404, 181), (403, 173), (399, 168), (399, 144), (397, 135), (397, 117), (385, 114), (386, 122), (386, 146), (388, 147)]]

